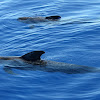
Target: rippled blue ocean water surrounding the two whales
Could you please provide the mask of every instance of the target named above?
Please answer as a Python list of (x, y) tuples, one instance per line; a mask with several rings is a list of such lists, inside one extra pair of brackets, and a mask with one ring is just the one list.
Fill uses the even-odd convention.
[[(19, 17), (60, 15), (27, 24)], [(33, 26), (34, 25), (34, 26)], [(43, 50), (44, 60), (100, 68), (100, 0), (0, 0), (0, 56)], [(99, 100), (100, 73), (65, 74), (0, 64), (0, 100)]]

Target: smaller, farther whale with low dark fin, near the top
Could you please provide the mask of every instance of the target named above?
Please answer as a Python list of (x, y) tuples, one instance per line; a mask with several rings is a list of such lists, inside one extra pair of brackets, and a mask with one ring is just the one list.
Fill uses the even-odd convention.
[(48, 22), (48, 21), (58, 21), (61, 19), (60, 16), (48, 16), (48, 17), (20, 17), (19, 21), (25, 23), (39, 23), (39, 22)]

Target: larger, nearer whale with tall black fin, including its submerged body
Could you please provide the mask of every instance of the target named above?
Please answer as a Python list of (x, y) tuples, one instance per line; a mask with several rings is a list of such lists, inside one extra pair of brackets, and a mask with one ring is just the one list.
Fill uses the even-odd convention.
[(63, 72), (67, 74), (100, 72), (100, 69), (95, 67), (41, 60), (40, 56), (44, 53), (44, 51), (32, 51), (21, 57), (0, 57), (0, 63), (4, 64), (4, 70), (10, 74), (13, 74), (12, 69)]

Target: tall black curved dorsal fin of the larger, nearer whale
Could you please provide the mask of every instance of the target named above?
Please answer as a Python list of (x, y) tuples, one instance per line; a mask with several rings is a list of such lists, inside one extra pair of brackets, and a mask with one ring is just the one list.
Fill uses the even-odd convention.
[(21, 56), (21, 58), (26, 61), (37, 61), (37, 60), (41, 59), (40, 57), (44, 53), (45, 53), (44, 51), (32, 51), (32, 52), (29, 52), (29, 53)]

